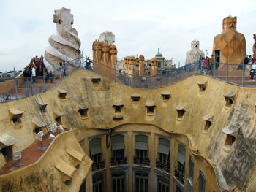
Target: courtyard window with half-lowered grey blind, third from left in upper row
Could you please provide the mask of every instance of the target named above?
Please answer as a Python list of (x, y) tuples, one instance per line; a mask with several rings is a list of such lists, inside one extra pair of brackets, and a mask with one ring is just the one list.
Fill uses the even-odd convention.
[(135, 164), (147, 164), (148, 159), (148, 137), (146, 135), (135, 136)]

